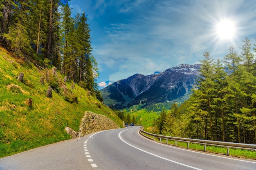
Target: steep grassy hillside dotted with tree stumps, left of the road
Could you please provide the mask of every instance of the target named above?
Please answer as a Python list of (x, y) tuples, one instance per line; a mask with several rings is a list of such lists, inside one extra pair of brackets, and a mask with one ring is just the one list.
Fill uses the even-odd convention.
[[(24, 73), (23, 83), (16, 79), (20, 72)], [(13, 59), (0, 48), (0, 157), (70, 139), (65, 126), (79, 131), (87, 110), (106, 115), (118, 126), (122, 125), (115, 113), (88, 96), (84, 89), (78, 85), (71, 89), (72, 82), (64, 83), (64, 76), (53, 77), (49, 72), (50, 81), (43, 85), (39, 80), (46, 77), (46, 70)], [(56, 87), (52, 98), (46, 97), (50, 85)], [(74, 97), (78, 102), (67, 101)], [(31, 107), (26, 105), (28, 98), (33, 100)]]

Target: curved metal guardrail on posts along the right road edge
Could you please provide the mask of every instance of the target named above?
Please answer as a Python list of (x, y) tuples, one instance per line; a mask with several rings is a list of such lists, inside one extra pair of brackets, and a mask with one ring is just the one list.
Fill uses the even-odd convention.
[[(137, 126), (141, 126), (139, 128), (139, 133), (141, 135), (144, 135), (145, 137), (148, 137), (147, 135), (153, 136), (153, 140), (155, 137), (158, 137), (160, 139), (160, 142), (162, 139), (166, 139), (166, 144), (168, 144), (168, 140), (175, 141), (175, 146), (177, 146), (177, 141), (179, 142), (187, 142), (187, 148), (189, 148), (189, 143), (196, 143), (196, 144), (202, 144), (204, 145), (204, 151), (206, 152), (206, 146), (220, 146), (227, 148), (227, 155), (229, 156), (229, 148), (237, 148), (237, 149), (246, 149), (246, 150), (256, 150), (255, 144), (240, 144), (240, 143), (232, 143), (232, 142), (221, 142), (221, 141), (212, 141), (212, 140), (203, 140), (203, 139), (189, 139), (189, 138), (182, 138), (182, 137), (171, 137), (171, 136), (164, 136), (164, 135), (157, 135), (153, 133), (149, 133), (144, 131), (144, 126), (137, 124)], [(147, 134), (147, 135), (145, 135)], [(152, 139), (151, 137), (149, 137)]]

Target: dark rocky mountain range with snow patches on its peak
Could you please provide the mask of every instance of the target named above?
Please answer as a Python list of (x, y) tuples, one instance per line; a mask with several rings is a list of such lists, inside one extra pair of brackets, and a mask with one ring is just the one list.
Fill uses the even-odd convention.
[(159, 74), (134, 74), (101, 89), (101, 96), (106, 105), (114, 105), (116, 109), (184, 101), (188, 99), (199, 68), (200, 64), (182, 64)]

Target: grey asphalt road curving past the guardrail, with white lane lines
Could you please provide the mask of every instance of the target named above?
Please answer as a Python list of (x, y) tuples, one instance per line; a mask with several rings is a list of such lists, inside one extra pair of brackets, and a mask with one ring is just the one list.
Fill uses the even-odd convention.
[(256, 160), (159, 144), (139, 127), (92, 133), (0, 159), (0, 170), (256, 170)]

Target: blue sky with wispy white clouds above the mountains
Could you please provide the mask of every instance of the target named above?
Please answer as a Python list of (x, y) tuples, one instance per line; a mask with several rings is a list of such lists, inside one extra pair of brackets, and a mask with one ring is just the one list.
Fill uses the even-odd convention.
[[(255, 0), (71, 0), (85, 12), (99, 68), (99, 89), (133, 74), (222, 59), (245, 36), (256, 44)], [(224, 24), (219, 28), (220, 23)], [(223, 25), (223, 24), (222, 24)], [(218, 29), (228, 28), (224, 34)], [(227, 37), (225, 35), (228, 35)]]

